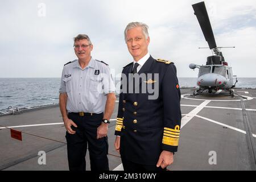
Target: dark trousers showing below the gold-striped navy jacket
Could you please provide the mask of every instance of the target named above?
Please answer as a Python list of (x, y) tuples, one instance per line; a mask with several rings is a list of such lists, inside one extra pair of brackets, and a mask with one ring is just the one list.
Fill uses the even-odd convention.
[(123, 170), (124, 171), (166, 171), (166, 168), (162, 169), (162, 167), (156, 167), (155, 165), (144, 165), (144, 164), (137, 164), (122, 158), (123, 163)]

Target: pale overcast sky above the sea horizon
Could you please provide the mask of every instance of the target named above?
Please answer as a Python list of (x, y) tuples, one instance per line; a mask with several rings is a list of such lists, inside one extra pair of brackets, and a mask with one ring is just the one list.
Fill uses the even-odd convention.
[[(94, 59), (113, 75), (133, 61), (123, 31), (130, 22), (149, 28), (149, 52), (175, 63), (178, 77), (197, 77), (190, 63), (205, 64), (207, 47), (192, 4), (184, 0), (2, 1), (0, 7), (0, 77), (60, 77), (76, 59), (73, 37), (88, 34)], [(206, 0), (217, 46), (238, 77), (256, 77), (256, 1)]]

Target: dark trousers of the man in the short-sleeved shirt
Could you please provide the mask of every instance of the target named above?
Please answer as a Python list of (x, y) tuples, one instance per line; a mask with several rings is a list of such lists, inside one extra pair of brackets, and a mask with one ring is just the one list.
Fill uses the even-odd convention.
[(97, 127), (101, 125), (103, 113), (79, 116), (68, 113), (68, 118), (76, 123), (72, 126), (75, 134), (66, 132), (68, 148), (68, 166), (70, 171), (85, 171), (85, 155), (89, 150), (90, 169), (92, 171), (109, 171), (108, 137), (97, 139)]

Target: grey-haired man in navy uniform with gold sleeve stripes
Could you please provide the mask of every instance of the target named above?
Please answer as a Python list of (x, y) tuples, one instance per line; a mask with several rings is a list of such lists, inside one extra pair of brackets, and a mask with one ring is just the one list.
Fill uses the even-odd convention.
[(150, 56), (147, 29), (139, 22), (129, 23), (125, 29), (134, 61), (122, 71), (114, 144), (125, 170), (166, 170), (174, 161), (179, 143), (181, 111), (176, 67), (171, 61)]

